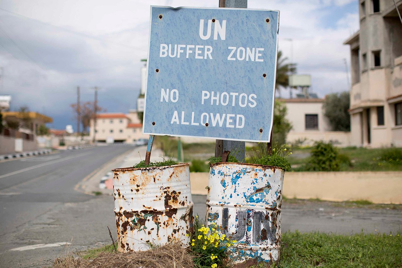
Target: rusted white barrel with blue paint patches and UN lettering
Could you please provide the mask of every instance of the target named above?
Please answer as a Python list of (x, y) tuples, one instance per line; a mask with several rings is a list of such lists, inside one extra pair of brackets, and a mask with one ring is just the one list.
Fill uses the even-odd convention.
[(281, 247), (281, 168), (242, 163), (211, 166), (207, 224), (237, 240), (230, 258), (239, 266), (277, 262)]

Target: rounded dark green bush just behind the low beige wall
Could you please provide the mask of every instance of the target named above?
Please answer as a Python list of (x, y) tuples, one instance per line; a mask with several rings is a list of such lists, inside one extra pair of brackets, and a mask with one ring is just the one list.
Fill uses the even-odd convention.
[(331, 143), (317, 141), (311, 151), (306, 165), (309, 171), (339, 171), (340, 159), (338, 150)]

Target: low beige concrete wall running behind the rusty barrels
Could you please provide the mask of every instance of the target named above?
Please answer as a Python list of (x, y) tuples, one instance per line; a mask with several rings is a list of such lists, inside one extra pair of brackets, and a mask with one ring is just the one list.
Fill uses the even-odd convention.
[[(190, 174), (192, 194), (207, 194), (208, 175), (208, 172)], [(285, 172), (283, 195), (402, 204), (401, 182), (402, 172)]]

